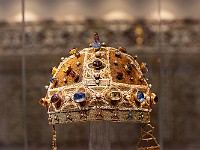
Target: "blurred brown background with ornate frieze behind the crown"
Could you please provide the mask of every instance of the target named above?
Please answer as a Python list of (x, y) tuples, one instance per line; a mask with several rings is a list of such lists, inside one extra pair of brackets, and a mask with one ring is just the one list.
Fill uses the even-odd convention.
[[(51, 149), (38, 101), (51, 67), (73, 47), (88, 47), (94, 32), (147, 62), (162, 150), (199, 150), (199, 9), (199, 0), (0, 0), (0, 150)], [(140, 124), (110, 123), (108, 131), (111, 149), (132, 150)], [(89, 123), (61, 125), (59, 149), (88, 149), (89, 132)]]

